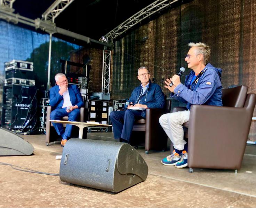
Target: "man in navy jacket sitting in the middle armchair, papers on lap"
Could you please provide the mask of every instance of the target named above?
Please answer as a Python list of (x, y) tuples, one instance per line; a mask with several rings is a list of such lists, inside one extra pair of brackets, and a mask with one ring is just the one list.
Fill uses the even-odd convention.
[[(151, 83), (150, 73), (146, 67), (138, 69), (138, 79), (141, 84), (131, 93), (125, 105), (125, 111), (113, 111), (110, 114), (114, 138), (129, 143), (133, 125), (136, 120), (146, 117), (147, 108), (163, 108), (165, 97), (159, 85)], [(133, 110), (139, 107), (141, 110)], [(142, 110), (144, 109), (144, 110)]]

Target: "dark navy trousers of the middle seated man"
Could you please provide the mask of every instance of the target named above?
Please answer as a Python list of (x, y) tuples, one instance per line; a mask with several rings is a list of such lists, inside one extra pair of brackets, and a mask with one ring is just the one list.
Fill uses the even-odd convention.
[(110, 113), (110, 119), (114, 131), (115, 139), (125, 139), (130, 141), (133, 131), (134, 121), (143, 118), (140, 110), (113, 111)]

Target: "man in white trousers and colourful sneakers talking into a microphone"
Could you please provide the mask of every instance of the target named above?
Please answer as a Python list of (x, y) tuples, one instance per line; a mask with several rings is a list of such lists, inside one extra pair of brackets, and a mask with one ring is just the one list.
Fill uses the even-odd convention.
[[(187, 166), (187, 142), (184, 140), (182, 124), (189, 121), (191, 105), (222, 106), (221, 69), (208, 63), (210, 47), (204, 43), (189, 43), (191, 48), (186, 55), (187, 67), (192, 69), (186, 76), (185, 84), (181, 84), (178, 75), (165, 81), (166, 88), (178, 101), (187, 103), (187, 111), (167, 113), (159, 118), (166, 134), (173, 142), (173, 153), (162, 159), (163, 165), (183, 168)], [(173, 86), (169, 84), (173, 82)]]

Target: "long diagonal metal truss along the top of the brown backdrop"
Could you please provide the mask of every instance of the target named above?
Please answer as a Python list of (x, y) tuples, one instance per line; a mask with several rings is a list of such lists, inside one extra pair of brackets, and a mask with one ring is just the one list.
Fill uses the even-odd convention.
[(99, 41), (112, 42), (113, 39), (117, 38), (118, 36), (126, 32), (128, 29), (130, 29), (131, 27), (141, 22), (142, 20), (149, 18), (156, 12), (159, 12), (169, 7), (170, 5), (172, 5), (177, 1), (181, 1), (181, 0), (157, 0), (151, 3), (149, 6), (137, 12), (135, 15), (131, 16), (130, 18), (125, 20), (123, 23), (115, 27), (112, 31), (104, 35)]

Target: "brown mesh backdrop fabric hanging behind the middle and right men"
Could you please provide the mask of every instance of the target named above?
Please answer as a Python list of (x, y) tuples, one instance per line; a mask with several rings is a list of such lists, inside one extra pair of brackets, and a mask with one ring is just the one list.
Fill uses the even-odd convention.
[[(189, 42), (211, 47), (209, 62), (222, 68), (224, 88), (247, 85), (256, 93), (256, 1), (194, 0), (166, 10), (164, 14), (114, 42), (111, 98), (128, 98), (139, 85), (137, 70), (149, 68), (151, 80), (162, 86), (184, 61)], [(182, 77), (184, 81), (184, 77)], [(252, 127), (254, 129), (255, 122)], [(255, 130), (253, 130), (255, 131)]]

